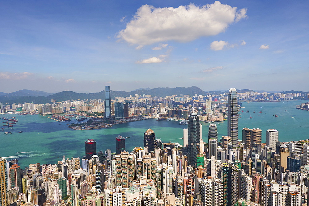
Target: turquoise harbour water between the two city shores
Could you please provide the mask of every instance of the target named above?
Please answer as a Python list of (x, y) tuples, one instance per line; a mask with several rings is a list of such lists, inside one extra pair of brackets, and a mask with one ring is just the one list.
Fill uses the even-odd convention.
[[(241, 139), (242, 128), (248, 127), (260, 128), (263, 142), (265, 142), (268, 129), (278, 130), (279, 141), (282, 142), (308, 139), (309, 111), (295, 109), (295, 105), (301, 102), (305, 101), (243, 103), (245, 108), (244, 112), (240, 113), (242, 116), (239, 118), (239, 138)], [(247, 110), (249, 113), (245, 112)], [(263, 111), (262, 114), (259, 113), (260, 110)], [(274, 117), (275, 114), (279, 117)], [(250, 115), (252, 119), (249, 118)], [(69, 129), (67, 125), (59, 125), (59, 122), (40, 115), (1, 114), (0, 116), (15, 116), (19, 120), (13, 127), (14, 130), (3, 127), (5, 131), (12, 131), (12, 134), (0, 133), (0, 157), (8, 160), (18, 159), (22, 168), (33, 163), (56, 164), (62, 159), (62, 155), (66, 155), (66, 158), (83, 157), (87, 139), (94, 139), (97, 142), (98, 151), (106, 149), (115, 151), (115, 138), (118, 135), (130, 136), (125, 143), (126, 149), (132, 151), (135, 146), (143, 146), (144, 132), (148, 128), (154, 130), (156, 137), (161, 138), (162, 142), (171, 141), (182, 144), (182, 129), (186, 128), (186, 125), (179, 125), (179, 121), (150, 119), (123, 123), (111, 128), (78, 131)], [(219, 139), (227, 135), (227, 121), (220, 123), (217, 125)], [(207, 142), (208, 125), (209, 123), (202, 122), (204, 142)], [(23, 133), (18, 133), (18, 131), (23, 131)]]

